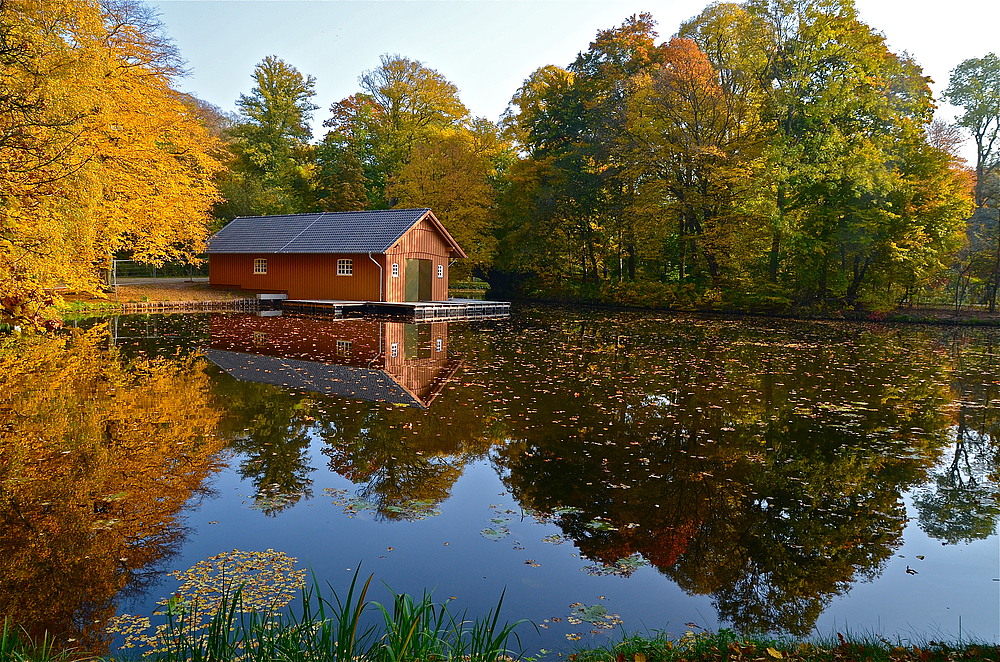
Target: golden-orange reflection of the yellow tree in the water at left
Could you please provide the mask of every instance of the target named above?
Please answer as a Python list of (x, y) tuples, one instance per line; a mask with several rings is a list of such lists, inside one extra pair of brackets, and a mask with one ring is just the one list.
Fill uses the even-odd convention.
[(0, 620), (106, 651), (220, 466), (205, 365), (127, 361), (106, 329), (0, 341)]

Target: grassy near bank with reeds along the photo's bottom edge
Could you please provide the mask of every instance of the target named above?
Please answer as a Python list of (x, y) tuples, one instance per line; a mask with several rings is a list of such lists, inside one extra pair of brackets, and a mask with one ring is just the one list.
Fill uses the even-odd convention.
[[(501, 622), (501, 596), (485, 616), (450, 611), (430, 594), (397, 594), (390, 604), (368, 601), (372, 578), (352, 583), (347, 595), (327, 599), (304, 589), (297, 607), (278, 611), (245, 600), (237, 591), (198, 604), (175, 595), (161, 601), (162, 624), (119, 629), (125, 646), (110, 657), (95, 656), (45, 637), (32, 641), (6, 621), (0, 631), (0, 660), (12, 662), (1000, 662), (1000, 646), (983, 643), (890, 641), (883, 637), (844, 637), (798, 641), (744, 636), (722, 630), (620, 633), (598, 648), (525, 652), (526, 621)], [(248, 604), (248, 602), (250, 604)], [(208, 607), (206, 609), (206, 607)], [(364, 625), (372, 620), (374, 625)], [(134, 617), (132, 617), (134, 618)], [(139, 619), (143, 620), (143, 619)]]

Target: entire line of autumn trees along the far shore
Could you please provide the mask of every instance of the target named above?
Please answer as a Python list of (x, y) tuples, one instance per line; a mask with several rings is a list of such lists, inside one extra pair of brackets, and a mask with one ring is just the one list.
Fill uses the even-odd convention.
[(711, 4), (666, 40), (632, 16), (537, 69), (498, 123), (402, 55), (321, 118), (278, 56), (233, 114), (182, 73), (138, 0), (0, 4), (5, 317), (46, 323), (116, 255), (197, 261), (236, 216), (394, 207), (432, 208), (469, 254), (453, 278), (500, 296), (996, 305), (1000, 61), (958, 64), (963, 114), (935, 121), (930, 80), (852, 0)]

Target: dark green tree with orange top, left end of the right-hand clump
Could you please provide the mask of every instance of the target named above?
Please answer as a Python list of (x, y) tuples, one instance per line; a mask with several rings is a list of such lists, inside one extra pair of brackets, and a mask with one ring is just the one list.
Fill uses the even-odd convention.
[[(500, 230), (500, 251), (505, 264), (517, 264), (506, 257), (519, 251), (515, 237), (552, 237), (553, 244), (530, 261), (555, 260), (536, 274), (543, 287), (575, 281), (596, 288), (635, 278), (634, 181), (621, 143), (627, 101), (659, 58), (655, 38), (652, 16), (632, 16), (598, 32), (567, 69), (535, 71), (511, 99), (505, 122), (532, 162), (522, 168), (531, 176), (515, 177), (512, 188), (531, 183), (532, 189), (519, 188), (509, 198), (521, 209), (504, 207), (510, 221)], [(520, 220), (524, 209), (530, 210), (527, 226)]]

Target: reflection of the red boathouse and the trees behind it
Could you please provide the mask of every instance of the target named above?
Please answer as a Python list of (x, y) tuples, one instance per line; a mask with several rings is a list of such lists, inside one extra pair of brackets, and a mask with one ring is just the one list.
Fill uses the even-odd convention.
[(384, 519), (399, 519), (410, 502), (446, 499), (465, 465), (497, 441), (495, 417), (454, 401), (437, 404), (433, 416), (423, 412), (460, 366), (447, 341), (447, 322), (213, 319), (207, 356), (248, 380), (224, 387), (224, 426), (245, 458), (240, 471), (254, 483), (258, 507), (274, 515), (311, 495), (310, 435)]

